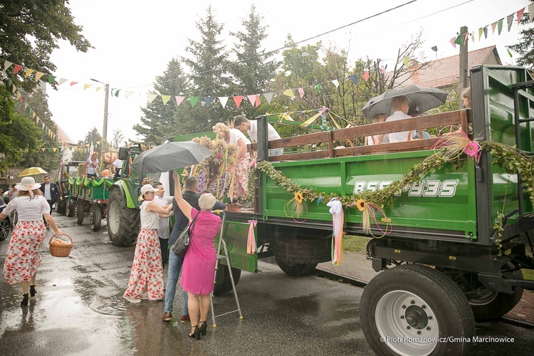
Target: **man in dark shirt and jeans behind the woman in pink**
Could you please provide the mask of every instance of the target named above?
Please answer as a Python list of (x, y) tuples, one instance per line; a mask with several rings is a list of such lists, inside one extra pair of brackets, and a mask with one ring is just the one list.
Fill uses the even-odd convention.
[[(184, 182), (184, 191), (182, 196), (194, 209), (200, 211), (199, 197), (199, 180), (196, 177), (188, 177)], [(221, 201), (217, 201), (214, 210), (223, 210), (226, 206)], [(174, 211), (174, 228), (171, 236), (169, 236), (169, 270), (167, 272), (167, 288), (165, 288), (165, 310), (162, 315), (162, 321), (172, 320), (172, 304), (174, 303), (174, 295), (176, 294), (176, 285), (180, 270), (182, 269), (183, 257), (176, 256), (172, 252), (172, 245), (177, 241), (178, 236), (189, 224), (189, 219), (182, 213), (176, 199), (172, 199), (172, 210)], [(182, 316), (180, 323), (189, 322), (189, 311), (187, 310), (187, 292), (184, 292), (184, 303), (182, 304)]]

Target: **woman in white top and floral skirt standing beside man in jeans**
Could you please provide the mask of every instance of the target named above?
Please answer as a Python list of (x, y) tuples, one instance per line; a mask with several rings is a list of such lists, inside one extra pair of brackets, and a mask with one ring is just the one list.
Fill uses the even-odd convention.
[(145, 184), (141, 187), (139, 201), (141, 231), (137, 236), (130, 281), (123, 297), (130, 303), (141, 299), (159, 300), (165, 296), (163, 285), (162, 253), (159, 248), (159, 218), (169, 217), (172, 205), (163, 208), (154, 202), (157, 189)]

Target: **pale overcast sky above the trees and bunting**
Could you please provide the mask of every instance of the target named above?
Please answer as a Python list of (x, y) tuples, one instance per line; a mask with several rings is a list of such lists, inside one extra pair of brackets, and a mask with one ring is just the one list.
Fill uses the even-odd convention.
[[(103, 130), (104, 90), (97, 92), (95, 88), (100, 84), (90, 78), (109, 83), (111, 88), (122, 88), (123, 92), (130, 90), (134, 93), (129, 98), (122, 94), (110, 98), (108, 140), (119, 128), (127, 138), (137, 140), (141, 137), (136, 137), (132, 126), (140, 122), (140, 107), (147, 105), (147, 91), (152, 89), (155, 77), (162, 75), (172, 57), (187, 56), (184, 51), (187, 38), (199, 39), (195, 22), (204, 18), (209, 4), (216, 21), (224, 24), (222, 39), (231, 49), (234, 38), (229, 32), (242, 31), (241, 19), (248, 15), (254, 3), (256, 11), (264, 18), (263, 24), (268, 26), (268, 38), (263, 46), (272, 51), (283, 46), (288, 34), (294, 41), (301, 41), (409, 1), (70, 0), (68, 6), (75, 23), (83, 26), (83, 35), (95, 48), (88, 53), (78, 53), (68, 43), (60, 43), (61, 48), (54, 51), (51, 58), (57, 66), (53, 75), (80, 84), (70, 86), (69, 82), (57, 91), (47, 90), (48, 105), (53, 120), (78, 142), (93, 127), (100, 133)], [(321, 41), (325, 46), (332, 44), (344, 48), (351, 63), (369, 56), (392, 65), (399, 46), (409, 41), (419, 29), (423, 31), (422, 50), (426, 58), (435, 59), (432, 46), (438, 48), (437, 58), (459, 53), (449, 39), (461, 26), (468, 26), (468, 31), (478, 33), (478, 28), (490, 25), (488, 38), (482, 37), (482, 41), (478, 41), (477, 35), (474, 43), (468, 43), (469, 51), (496, 45), (503, 63), (512, 63), (513, 58), (508, 56), (504, 46), (516, 43), (518, 32), (525, 26), (514, 23), (508, 32), (506, 16), (529, 4), (528, 0), (417, 0), (300, 46)], [(491, 23), (503, 17), (505, 23), (501, 35), (497, 36), (497, 31), (493, 35)], [(84, 90), (84, 83), (94, 83), (95, 86)], [(263, 88), (258, 88), (258, 93), (263, 93)], [(255, 93), (235, 93), (248, 94)]]

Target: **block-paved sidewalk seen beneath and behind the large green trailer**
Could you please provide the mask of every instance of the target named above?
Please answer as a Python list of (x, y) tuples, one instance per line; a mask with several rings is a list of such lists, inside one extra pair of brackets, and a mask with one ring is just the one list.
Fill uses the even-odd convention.
[[(360, 287), (365, 287), (378, 274), (372, 269), (371, 261), (367, 260), (365, 254), (348, 251), (345, 251), (344, 261), (339, 266), (334, 266), (331, 262), (319, 263), (315, 271), (319, 276)], [(523, 290), (523, 298), (518, 305), (502, 318), (534, 327), (534, 291)]]

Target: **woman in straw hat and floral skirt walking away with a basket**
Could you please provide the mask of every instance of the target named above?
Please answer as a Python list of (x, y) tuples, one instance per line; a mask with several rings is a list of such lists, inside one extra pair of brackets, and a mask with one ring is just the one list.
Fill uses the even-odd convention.
[(9, 284), (21, 283), (22, 307), (28, 305), (28, 286), (30, 295), (36, 294), (35, 278), (41, 264), (41, 243), (46, 235), (43, 216), (57, 236), (63, 235), (50, 215), (50, 206), (40, 187), (41, 184), (36, 183), (33, 177), (23, 177), (16, 184), (18, 197), (9, 201), (0, 213), (0, 221), (6, 219), (11, 211), (19, 214), (7, 248), (4, 277)]

